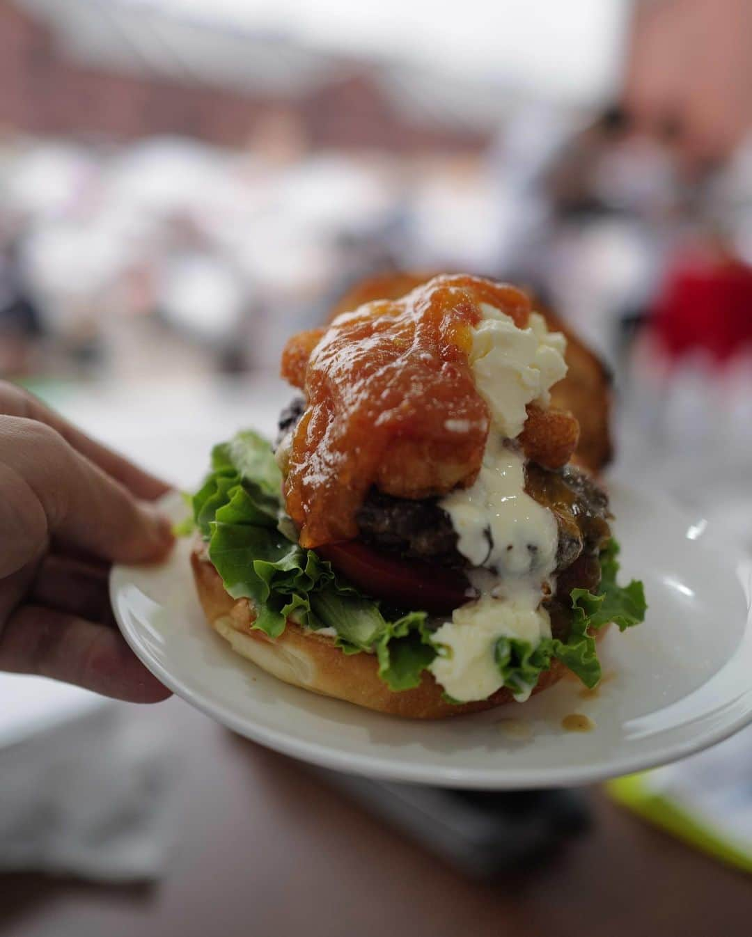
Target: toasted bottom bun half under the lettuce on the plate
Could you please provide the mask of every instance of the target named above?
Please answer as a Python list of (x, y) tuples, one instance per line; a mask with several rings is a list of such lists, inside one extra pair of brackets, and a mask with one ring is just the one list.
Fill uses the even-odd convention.
[[(443, 719), (481, 712), (504, 706), (513, 699), (511, 692), (503, 688), (488, 700), (452, 706), (442, 699), (442, 688), (428, 673), (424, 673), (420, 686), (414, 690), (393, 692), (380, 679), (374, 655), (343, 654), (332, 638), (306, 631), (293, 621), (288, 621), (284, 632), (272, 640), (252, 627), (251, 602), (233, 599), (225, 591), (213, 564), (202, 554), (202, 544), (197, 543), (190, 562), (209, 624), (236, 653), (285, 683), (407, 719)], [(565, 669), (560, 662), (552, 662), (533, 692), (557, 683)]]

